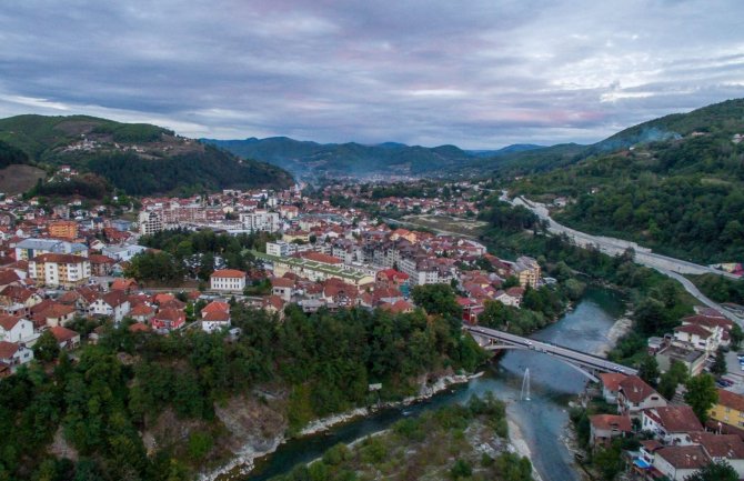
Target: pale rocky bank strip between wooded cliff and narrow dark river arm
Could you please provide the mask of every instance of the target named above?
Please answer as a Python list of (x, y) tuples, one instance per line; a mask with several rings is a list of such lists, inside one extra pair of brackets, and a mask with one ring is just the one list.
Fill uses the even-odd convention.
[(284, 444), (290, 439), (301, 439), (320, 434), (338, 425), (371, 415), (372, 413), (378, 412), (380, 410), (400, 408), (425, 401), (432, 398), (434, 394), (438, 394), (446, 390), (451, 385), (467, 382), (469, 379), (473, 377), (463, 374), (449, 374), (439, 378), (431, 385), (429, 385), (426, 382), (422, 382), (418, 395), (409, 397), (398, 402), (382, 403), (380, 404), (379, 408), (374, 409), (355, 408), (346, 412), (318, 419), (315, 421), (310, 422), (302, 431), (300, 431), (298, 435), (293, 438), (286, 438), (284, 433), (277, 434), (274, 438), (271, 439), (271, 441), (265, 445), (264, 449), (255, 449), (253, 447), (253, 443), (247, 443), (235, 453), (235, 457), (231, 459), (228, 463), (223, 464), (218, 469), (211, 470), (207, 473), (201, 473), (198, 479), (200, 481), (242, 480), (251, 474), (251, 472), (255, 469), (257, 462), (259, 462), (262, 458), (272, 454), (274, 451), (277, 451), (277, 449), (279, 449), (280, 445)]

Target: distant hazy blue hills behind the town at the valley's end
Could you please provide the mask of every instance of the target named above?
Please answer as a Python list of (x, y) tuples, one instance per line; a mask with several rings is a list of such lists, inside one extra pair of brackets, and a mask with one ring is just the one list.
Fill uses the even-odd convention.
[(493, 151), (465, 151), (455, 146), (426, 148), (385, 142), (375, 146), (361, 143), (316, 143), (288, 137), (245, 140), (202, 139), (237, 156), (259, 159), (289, 170), (299, 177), (415, 176), (431, 177), (460, 173), (463, 166), (506, 154), (541, 149), (540, 146), (509, 146)]

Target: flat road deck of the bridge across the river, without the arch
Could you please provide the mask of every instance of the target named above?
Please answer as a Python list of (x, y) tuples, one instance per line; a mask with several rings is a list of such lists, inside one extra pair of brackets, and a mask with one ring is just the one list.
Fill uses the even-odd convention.
[(566, 361), (580, 364), (582, 367), (596, 369), (604, 372), (622, 372), (625, 374), (637, 374), (637, 370), (627, 368), (623, 364), (607, 361), (606, 359), (596, 355), (587, 354), (585, 352), (575, 351), (573, 349), (564, 348), (562, 345), (552, 344), (549, 342), (536, 341), (533, 339), (523, 338), (521, 335), (510, 334), (507, 332), (495, 329), (483, 328), (480, 325), (463, 325), (463, 329), (476, 335), (493, 339), (505, 344), (524, 347), (537, 352), (562, 358)]

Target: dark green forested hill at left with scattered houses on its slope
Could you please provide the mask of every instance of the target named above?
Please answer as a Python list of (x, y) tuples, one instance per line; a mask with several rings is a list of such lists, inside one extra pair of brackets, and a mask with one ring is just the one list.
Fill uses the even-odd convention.
[[(12, 151), (7, 156), (8, 149)], [(0, 119), (0, 168), (22, 162), (41, 167), (69, 164), (88, 173), (82, 176), (82, 183), (100, 184), (104, 179), (130, 194), (229, 187), (283, 188), (293, 182), (288, 172), (275, 166), (239, 159), (161, 127), (87, 116)], [(74, 183), (54, 186), (52, 190), (64, 193), (66, 187), (82, 194), (100, 192)]]

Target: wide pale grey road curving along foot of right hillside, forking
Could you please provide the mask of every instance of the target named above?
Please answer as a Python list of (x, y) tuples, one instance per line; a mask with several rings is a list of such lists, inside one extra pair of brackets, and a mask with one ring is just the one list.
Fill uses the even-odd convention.
[[(509, 201), (505, 196), (502, 196), (502, 200)], [(687, 262), (681, 259), (674, 259), (667, 255), (661, 255), (651, 252), (651, 249), (643, 248), (635, 242), (625, 241), (622, 239), (607, 238), (603, 236), (592, 236), (585, 232), (580, 232), (575, 229), (571, 229), (563, 224), (557, 223), (550, 217), (547, 209), (539, 203), (531, 202), (524, 198), (515, 198), (511, 201), (513, 206), (523, 206), (531, 211), (533, 211), (540, 219), (547, 222), (547, 230), (554, 234), (566, 234), (571, 238), (577, 245), (589, 247), (596, 245), (600, 251), (610, 254), (616, 255), (625, 252), (629, 248), (632, 248), (635, 251), (635, 262), (655, 269), (658, 272), (668, 275), (673, 279), (676, 279), (682, 283), (690, 294), (692, 294), (700, 302), (708, 305), (717, 311), (720, 311), (727, 319), (738, 323), (744, 327), (744, 320), (735, 315), (733, 312), (723, 309), (718, 303), (706, 298), (687, 278), (682, 274), (707, 274), (714, 273), (717, 275), (723, 275), (730, 279), (740, 278), (731, 274), (728, 272), (723, 272), (716, 269), (708, 268), (707, 265), (700, 265), (693, 262)]]

